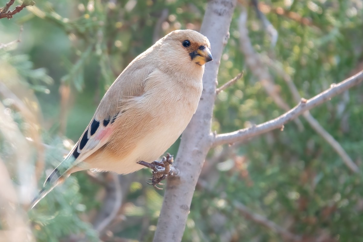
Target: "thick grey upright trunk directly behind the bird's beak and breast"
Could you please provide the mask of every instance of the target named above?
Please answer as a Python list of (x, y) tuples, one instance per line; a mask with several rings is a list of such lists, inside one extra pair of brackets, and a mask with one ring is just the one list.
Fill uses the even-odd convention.
[(175, 166), (179, 176), (168, 177), (167, 188), (154, 242), (181, 241), (194, 189), (212, 144), (210, 135), (216, 79), (223, 47), (229, 37), (229, 25), (236, 0), (208, 2), (200, 32), (208, 37), (214, 61), (205, 65), (203, 93), (198, 109), (183, 132)]

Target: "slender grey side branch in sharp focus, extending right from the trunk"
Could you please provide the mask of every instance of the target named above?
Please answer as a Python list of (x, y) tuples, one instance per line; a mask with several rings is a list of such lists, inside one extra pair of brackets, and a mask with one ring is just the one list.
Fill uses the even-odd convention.
[(322, 93), (316, 95), (315, 97), (309, 100), (302, 99), (297, 106), (295, 106), (293, 109), (286, 112), (285, 114), (277, 117), (276, 119), (227, 134), (219, 134), (219, 135), (213, 134), (214, 135), (213, 146), (234, 143), (236, 141), (264, 134), (276, 128), (281, 128), (282, 125), (293, 120), (297, 116), (301, 115), (303, 112), (310, 110), (311, 108), (316, 107), (327, 100), (330, 100), (332, 97), (335, 97), (336, 95), (342, 93), (343, 91), (358, 85), (362, 81), (363, 81), (363, 71), (360, 71), (358, 74), (338, 84), (332, 84), (328, 90), (323, 91)]

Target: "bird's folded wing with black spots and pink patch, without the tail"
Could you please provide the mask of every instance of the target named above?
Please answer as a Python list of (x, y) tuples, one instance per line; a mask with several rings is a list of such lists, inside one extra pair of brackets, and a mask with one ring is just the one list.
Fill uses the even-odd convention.
[(109, 141), (115, 129), (115, 120), (123, 115), (125, 106), (132, 98), (143, 94), (144, 82), (154, 69), (151, 67), (125, 69), (102, 98), (81, 138), (56, 168), (59, 174), (67, 173), (78, 165), (76, 171), (89, 169), (86, 166), (82, 167), (81, 162)]

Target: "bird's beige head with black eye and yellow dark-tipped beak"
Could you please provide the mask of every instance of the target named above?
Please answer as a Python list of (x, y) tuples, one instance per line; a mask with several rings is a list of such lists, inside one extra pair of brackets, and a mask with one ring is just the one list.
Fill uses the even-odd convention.
[(174, 30), (162, 38), (160, 44), (172, 62), (203, 66), (213, 60), (208, 38), (194, 30)]

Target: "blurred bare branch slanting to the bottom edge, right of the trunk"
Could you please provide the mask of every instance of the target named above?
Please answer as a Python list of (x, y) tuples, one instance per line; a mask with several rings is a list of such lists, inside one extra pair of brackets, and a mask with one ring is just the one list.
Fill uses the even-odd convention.
[(285, 228), (277, 225), (276, 223), (268, 220), (268, 218), (253, 213), (251, 210), (249, 210), (245, 205), (241, 204), (240, 202), (234, 201), (233, 205), (235, 208), (238, 209), (238, 211), (246, 218), (267, 227), (270, 230), (275, 231), (276, 233), (280, 234), (284, 239), (287, 239), (288, 241), (294, 241), (299, 242), (302, 241), (302, 238), (298, 235), (295, 235), (291, 233), (290, 231), (286, 230)]

